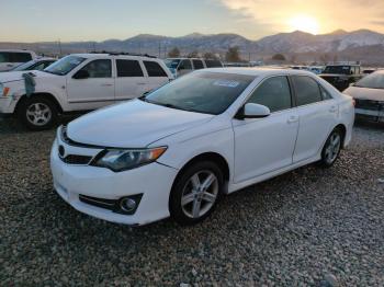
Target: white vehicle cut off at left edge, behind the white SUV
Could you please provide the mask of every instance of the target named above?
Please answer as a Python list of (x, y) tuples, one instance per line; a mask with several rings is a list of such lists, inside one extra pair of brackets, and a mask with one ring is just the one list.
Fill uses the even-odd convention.
[(31, 50), (0, 49), (0, 71), (9, 71), (23, 62), (36, 58), (36, 54)]

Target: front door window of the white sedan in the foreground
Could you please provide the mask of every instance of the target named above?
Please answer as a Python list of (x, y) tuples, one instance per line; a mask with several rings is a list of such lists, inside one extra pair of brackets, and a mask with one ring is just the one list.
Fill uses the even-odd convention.
[(247, 103), (268, 106), (271, 113), (291, 108), (292, 97), (287, 78), (281, 76), (267, 79)]

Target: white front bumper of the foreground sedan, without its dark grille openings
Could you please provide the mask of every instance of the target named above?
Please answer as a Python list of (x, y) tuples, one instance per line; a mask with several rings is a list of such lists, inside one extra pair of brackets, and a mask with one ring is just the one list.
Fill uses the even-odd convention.
[[(169, 217), (169, 194), (178, 170), (156, 162), (120, 173), (103, 168), (68, 164), (58, 156), (58, 140), (55, 140), (50, 152), (54, 186), (60, 197), (74, 208), (100, 219), (135, 226)], [(100, 152), (97, 149), (71, 146), (65, 146), (65, 149), (86, 156)], [(143, 194), (143, 197), (134, 215), (117, 214), (79, 198), (83, 195), (116, 200), (137, 194)]]

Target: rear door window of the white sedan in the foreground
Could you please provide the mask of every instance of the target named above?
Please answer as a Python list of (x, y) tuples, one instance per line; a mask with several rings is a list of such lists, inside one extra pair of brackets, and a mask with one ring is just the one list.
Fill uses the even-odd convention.
[(308, 105), (323, 101), (319, 84), (306, 76), (293, 76), (297, 106)]

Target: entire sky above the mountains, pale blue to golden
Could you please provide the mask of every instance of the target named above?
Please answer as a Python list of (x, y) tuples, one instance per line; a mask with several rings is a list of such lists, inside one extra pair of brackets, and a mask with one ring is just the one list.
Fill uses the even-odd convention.
[(384, 0), (1, 0), (0, 42), (125, 39), (137, 34), (301, 30), (384, 33)]

